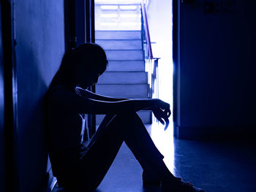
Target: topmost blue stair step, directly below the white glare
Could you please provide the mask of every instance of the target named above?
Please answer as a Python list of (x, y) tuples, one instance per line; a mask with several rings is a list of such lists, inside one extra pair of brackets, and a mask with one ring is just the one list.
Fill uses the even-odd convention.
[(95, 31), (96, 39), (141, 39), (141, 31)]

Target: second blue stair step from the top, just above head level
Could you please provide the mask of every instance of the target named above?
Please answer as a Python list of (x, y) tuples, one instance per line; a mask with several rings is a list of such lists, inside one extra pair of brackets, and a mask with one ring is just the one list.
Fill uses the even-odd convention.
[(96, 40), (104, 50), (141, 50), (141, 40)]

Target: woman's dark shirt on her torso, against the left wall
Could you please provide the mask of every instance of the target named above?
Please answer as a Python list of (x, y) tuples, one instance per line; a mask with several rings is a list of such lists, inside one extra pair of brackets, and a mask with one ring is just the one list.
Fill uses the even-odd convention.
[(83, 118), (75, 90), (57, 85), (48, 92), (48, 133), (50, 150), (67, 151), (83, 149)]

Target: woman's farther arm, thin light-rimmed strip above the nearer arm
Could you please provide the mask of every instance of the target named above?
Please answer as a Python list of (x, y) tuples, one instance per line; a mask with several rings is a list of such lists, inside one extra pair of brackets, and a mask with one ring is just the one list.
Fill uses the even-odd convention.
[(75, 91), (77, 91), (77, 93), (84, 97), (84, 98), (88, 98), (88, 99), (94, 99), (94, 100), (98, 100), (98, 101), (124, 101), (124, 100), (128, 100), (127, 98), (113, 98), (113, 97), (109, 97), (109, 96), (102, 96), (99, 95), (97, 93), (93, 93), (89, 90), (83, 89), (83, 88), (75, 88)]

